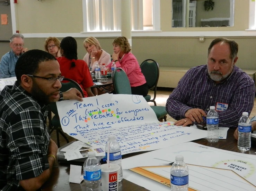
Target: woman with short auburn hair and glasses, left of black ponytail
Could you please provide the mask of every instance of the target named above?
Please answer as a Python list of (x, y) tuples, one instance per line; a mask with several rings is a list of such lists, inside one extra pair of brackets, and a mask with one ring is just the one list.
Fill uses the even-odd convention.
[(56, 37), (48, 37), (47, 39), (45, 39), (44, 49), (46, 52), (52, 54), (55, 58), (61, 57), (60, 41)]

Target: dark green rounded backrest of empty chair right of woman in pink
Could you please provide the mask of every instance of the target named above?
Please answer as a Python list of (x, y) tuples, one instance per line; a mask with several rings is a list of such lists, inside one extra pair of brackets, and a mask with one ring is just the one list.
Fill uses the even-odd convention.
[(145, 76), (149, 89), (157, 86), (159, 79), (159, 66), (155, 60), (147, 59), (140, 65), (141, 72)]

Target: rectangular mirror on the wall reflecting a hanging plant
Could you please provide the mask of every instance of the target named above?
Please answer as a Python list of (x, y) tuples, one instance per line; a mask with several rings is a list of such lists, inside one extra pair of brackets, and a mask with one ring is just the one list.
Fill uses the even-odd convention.
[(172, 0), (172, 27), (233, 27), (235, 0)]

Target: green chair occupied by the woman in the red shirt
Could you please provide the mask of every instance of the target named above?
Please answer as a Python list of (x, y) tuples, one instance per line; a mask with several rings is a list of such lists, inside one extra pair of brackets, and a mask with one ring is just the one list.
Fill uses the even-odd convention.
[[(65, 81), (67, 81), (67, 83), (64, 83)], [(70, 88), (77, 88), (81, 92), (82, 96), (84, 97), (82, 88), (74, 80), (64, 78), (63, 81), (61, 82), (61, 85), (62, 86), (60, 88), (60, 91), (65, 92), (65, 91), (68, 91)], [(52, 115), (51, 115), (52, 112), (55, 114), (53, 116), (53, 118), (52, 118)], [(60, 117), (58, 115), (58, 109), (57, 109), (57, 106), (56, 106), (55, 102), (50, 103), (50, 110), (49, 110), (48, 118), (49, 118), (49, 134), (51, 134), (54, 130), (56, 130), (56, 137), (57, 137), (58, 147), (60, 147), (59, 133), (62, 135), (62, 137), (64, 137), (64, 139), (68, 143), (69, 142), (68, 138), (61, 131)]]

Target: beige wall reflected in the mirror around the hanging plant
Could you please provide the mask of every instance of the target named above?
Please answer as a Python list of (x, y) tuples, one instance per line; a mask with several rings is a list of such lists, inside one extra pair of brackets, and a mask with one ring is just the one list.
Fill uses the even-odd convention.
[(196, 27), (201, 27), (201, 19), (229, 18), (229, 0), (214, 0), (213, 10), (204, 10), (204, 1), (196, 1)]

